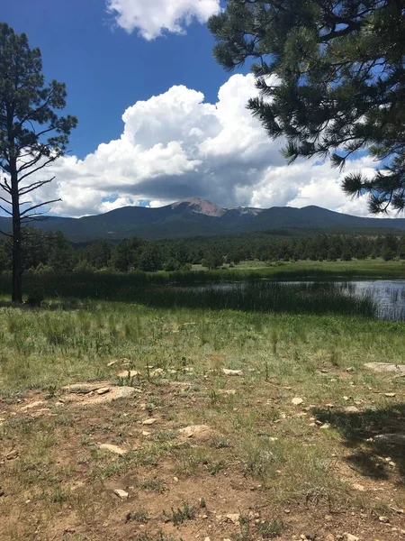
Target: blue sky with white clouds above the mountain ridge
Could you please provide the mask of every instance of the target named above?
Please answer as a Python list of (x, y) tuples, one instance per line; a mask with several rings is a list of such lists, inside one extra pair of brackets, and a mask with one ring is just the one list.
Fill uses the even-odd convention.
[[(341, 191), (352, 170), (328, 162), (288, 166), (247, 111), (248, 67), (228, 73), (212, 58), (206, 27), (221, 0), (1, 0), (1, 20), (42, 51), (47, 80), (67, 84), (78, 117), (69, 154), (37, 179), (55, 180), (35, 203), (60, 197), (52, 215), (120, 206), (163, 206), (202, 197), (218, 206), (324, 206), (368, 215), (365, 198)], [(46, 175), (46, 176), (44, 176)]]

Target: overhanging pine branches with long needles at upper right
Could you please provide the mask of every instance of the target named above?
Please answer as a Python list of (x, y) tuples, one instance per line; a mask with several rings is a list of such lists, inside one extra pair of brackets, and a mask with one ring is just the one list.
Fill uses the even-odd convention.
[(253, 59), (260, 96), (248, 107), (284, 155), (343, 168), (367, 148), (371, 179), (347, 175), (348, 195), (373, 213), (405, 209), (404, 0), (229, 0), (209, 28), (226, 69)]

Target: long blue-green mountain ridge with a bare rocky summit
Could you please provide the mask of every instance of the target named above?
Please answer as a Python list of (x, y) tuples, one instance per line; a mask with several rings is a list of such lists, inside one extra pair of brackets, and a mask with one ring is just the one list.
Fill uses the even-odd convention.
[[(103, 215), (49, 218), (33, 222), (41, 231), (62, 231), (74, 242), (120, 240), (138, 235), (153, 240), (199, 235), (243, 233), (268, 229), (323, 229), (345, 232), (405, 232), (404, 218), (361, 218), (320, 206), (221, 208), (192, 197), (159, 208), (124, 206)], [(0, 230), (9, 231), (11, 219), (0, 216)]]

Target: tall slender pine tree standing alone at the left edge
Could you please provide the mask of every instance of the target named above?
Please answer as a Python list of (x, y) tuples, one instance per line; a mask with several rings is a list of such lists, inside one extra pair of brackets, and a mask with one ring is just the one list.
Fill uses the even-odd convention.
[(55, 113), (65, 107), (66, 96), (64, 83), (52, 80), (45, 86), (40, 50), (30, 48), (25, 34), (0, 23), (0, 171), (4, 173), (0, 188), (5, 192), (0, 207), (13, 218), (13, 233), (4, 234), (13, 242), (12, 298), (18, 303), (23, 301), (23, 225), (38, 219), (44, 206), (58, 200), (26, 201), (32, 191), (52, 180), (34, 180), (31, 175), (64, 154), (77, 124), (75, 116)]

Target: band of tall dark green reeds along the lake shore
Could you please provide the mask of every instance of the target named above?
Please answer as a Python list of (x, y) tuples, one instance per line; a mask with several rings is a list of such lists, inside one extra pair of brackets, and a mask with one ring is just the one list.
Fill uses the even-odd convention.
[[(202, 285), (188, 283), (195, 274)], [(223, 274), (223, 273), (222, 273)], [(197, 276), (197, 278), (198, 278)], [(293, 314), (348, 314), (374, 316), (376, 307), (371, 298), (357, 298), (350, 288), (343, 291), (333, 282), (284, 284), (270, 280), (251, 280), (226, 285), (204, 285), (215, 273), (149, 274), (131, 272), (72, 272), (60, 274), (27, 272), (24, 289), (43, 298), (115, 300), (137, 302), (148, 307), (190, 307), (201, 309), (232, 309), (254, 312), (286, 312)], [(229, 275), (227, 275), (229, 277)], [(7, 278), (7, 277), (6, 277)], [(7, 280), (0, 280), (0, 292), (7, 290)], [(33, 293), (32, 293), (33, 292)], [(13, 325), (13, 323), (11, 323)], [(134, 332), (127, 329), (127, 334)], [(54, 330), (53, 339), (63, 335)]]

